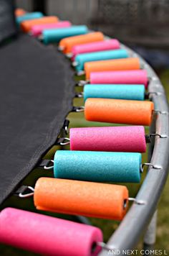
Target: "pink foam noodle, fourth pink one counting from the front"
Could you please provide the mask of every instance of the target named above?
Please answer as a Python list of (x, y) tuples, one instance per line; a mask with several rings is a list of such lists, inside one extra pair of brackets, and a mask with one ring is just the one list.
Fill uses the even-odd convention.
[(100, 52), (102, 50), (117, 50), (120, 48), (120, 42), (116, 39), (105, 40), (102, 42), (89, 42), (83, 45), (74, 45), (72, 47), (72, 60), (77, 54), (87, 52)]

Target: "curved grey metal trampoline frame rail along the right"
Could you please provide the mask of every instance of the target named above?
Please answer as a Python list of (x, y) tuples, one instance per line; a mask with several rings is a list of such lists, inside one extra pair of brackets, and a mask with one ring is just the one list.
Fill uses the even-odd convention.
[[(125, 47), (125, 45), (122, 45), (122, 47)], [(125, 49), (130, 52), (131, 57), (140, 58), (137, 53), (133, 52), (128, 47), (125, 47)], [(153, 69), (150, 68), (150, 65), (148, 65), (148, 63), (146, 63), (142, 58), (140, 58), (140, 63), (143, 68), (148, 71), (148, 76), (150, 77), (148, 92), (150, 93), (150, 97), (155, 104), (155, 110), (157, 111), (155, 114), (155, 121), (152, 124), (152, 127), (150, 127), (150, 130), (154, 129), (153, 126), (155, 126), (155, 133), (166, 136), (156, 136), (154, 144), (150, 147), (150, 163), (153, 164), (153, 166), (158, 166), (160, 169), (149, 166), (145, 180), (143, 181), (143, 184), (137, 193), (137, 200), (144, 201), (145, 204), (132, 204), (125, 218), (120, 223), (120, 226), (117, 228), (114, 234), (112, 234), (109, 241), (107, 242), (108, 248), (110, 247), (112, 250), (119, 250), (120, 254), (118, 255), (122, 255), (122, 250), (132, 250), (135, 246), (137, 246), (137, 242), (140, 239), (140, 236), (143, 234), (143, 232), (146, 231), (149, 223), (149, 234), (147, 232), (145, 236), (145, 243), (148, 241), (148, 239), (155, 242), (155, 211), (158, 207), (158, 201), (165, 186), (165, 181), (168, 177), (168, 102), (165, 96), (165, 90)], [(151, 218), (153, 218), (152, 221), (150, 221)], [(100, 256), (107, 255), (107, 250), (102, 250)]]

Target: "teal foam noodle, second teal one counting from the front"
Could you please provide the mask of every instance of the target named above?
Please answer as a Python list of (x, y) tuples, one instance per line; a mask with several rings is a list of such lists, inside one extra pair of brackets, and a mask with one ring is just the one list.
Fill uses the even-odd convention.
[(143, 101), (145, 86), (134, 84), (87, 84), (84, 86), (84, 101), (88, 98), (130, 99)]

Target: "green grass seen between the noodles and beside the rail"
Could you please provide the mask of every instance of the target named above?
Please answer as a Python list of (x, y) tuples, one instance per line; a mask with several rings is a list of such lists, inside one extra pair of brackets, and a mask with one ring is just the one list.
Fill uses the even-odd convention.
[[(169, 69), (163, 70), (163, 72), (158, 73), (158, 75), (160, 76), (160, 79), (163, 82), (163, 86), (165, 87), (165, 91), (169, 100)], [(81, 89), (79, 88), (79, 90)], [(82, 99), (75, 99), (74, 104), (76, 106), (81, 105)], [(96, 122), (95, 123), (87, 122), (84, 120), (83, 117), (84, 116), (82, 113), (78, 113), (78, 114), (72, 113), (72, 114), (69, 114), (68, 116), (71, 126), (73, 124), (74, 127), (76, 126), (89, 127), (89, 126), (100, 125), (100, 123), (96, 123)], [(110, 125), (110, 124), (102, 124), (102, 126), (104, 125)], [(55, 150), (57, 150), (57, 147), (53, 147), (52, 150), (48, 152), (47, 157), (53, 157)], [(147, 155), (143, 154), (143, 163), (146, 162), (146, 159), (147, 159)], [(36, 182), (37, 178), (41, 176), (52, 176), (52, 172), (49, 171), (49, 173), (47, 173), (44, 170), (34, 170), (32, 174), (29, 175), (29, 177), (27, 177), (24, 180), (24, 184), (34, 186), (34, 183)], [(126, 184), (126, 185), (130, 191), (130, 196), (135, 196), (137, 194), (137, 191), (140, 188), (140, 185), (137, 185), (137, 184), (132, 184), (132, 185)], [(169, 180), (165, 185), (165, 188), (160, 198), (160, 203), (158, 206), (157, 241), (155, 244), (155, 249), (166, 250), (169, 254), (169, 243), (168, 243), (169, 241), (169, 196), (168, 195), (169, 195)], [(32, 198), (19, 199), (19, 198), (16, 198), (15, 196), (12, 196), (8, 200), (6, 200), (5, 204), (3, 205), (3, 207), (6, 207), (6, 206), (26, 209), (28, 211), (35, 211)], [(49, 214), (49, 213), (45, 212), (45, 214)], [(61, 214), (49, 214), (49, 215), (64, 217), (65, 219), (72, 219), (72, 216), (65, 216), (65, 215), (63, 216)], [(119, 224), (117, 221), (109, 221), (109, 220), (95, 219), (95, 218), (90, 218), (90, 221), (92, 222), (93, 225), (100, 227), (102, 229), (105, 242), (107, 242), (107, 239), (109, 239), (110, 235), (112, 234), (112, 232), (115, 231), (115, 229), (117, 229)], [(137, 248), (141, 249), (141, 247), (142, 247), (142, 241), (140, 239), (140, 242), (137, 245)], [(0, 255), (15, 256), (15, 255), (35, 255), (35, 254), (31, 252), (25, 252), (23, 250), (18, 250), (16, 248), (1, 244)]]

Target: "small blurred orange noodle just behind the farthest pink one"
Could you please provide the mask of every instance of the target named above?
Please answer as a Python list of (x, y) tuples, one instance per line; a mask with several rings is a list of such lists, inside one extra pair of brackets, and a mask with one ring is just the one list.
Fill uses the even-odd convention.
[(58, 18), (56, 16), (47, 16), (39, 19), (26, 20), (21, 22), (21, 29), (27, 33), (30, 32), (34, 25), (49, 24), (54, 22), (58, 22)]

